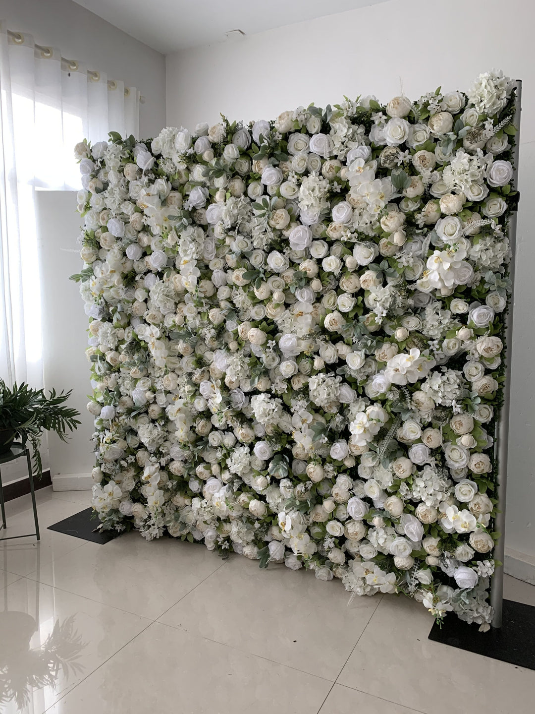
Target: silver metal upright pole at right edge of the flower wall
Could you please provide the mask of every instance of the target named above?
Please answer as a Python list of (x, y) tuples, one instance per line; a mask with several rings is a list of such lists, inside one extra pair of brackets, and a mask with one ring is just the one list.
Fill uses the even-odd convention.
[[(514, 175), (513, 184), (518, 188), (519, 148), (520, 148), (520, 111), (521, 111), (522, 81), (516, 80), (516, 101), (514, 103), (514, 126), (516, 126), (514, 145)], [(498, 508), (500, 509), (494, 519), (494, 531), (500, 534), (494, 548), (494, 560), (504, 563), (505, 558), (505, 504), (507, 486), (507, 457), (509, 454), (509, 406), (511, 398), (511, 361), (513, 351), (513, 312), (514, 312), (514, 268), (516, 261), (516, 211), (509, 217), (507, 235), (511, 246), (511, 262), (509, 263), (509, 278), (511, 279), (511, 296), (509, 297), (509, 310), (505, 316), (505, 383), (504, 404), (501, 408), (499, 423), (496, 426), (496, 443), (494, 447), (495, 463), (497, 464), (497, 493)], [(491, 580), (491, 605), (494, 616), (491, 626), (501, 627), (501, 610), (504, 599), (504, 566), (496, 568)]]

